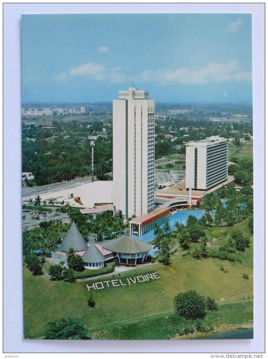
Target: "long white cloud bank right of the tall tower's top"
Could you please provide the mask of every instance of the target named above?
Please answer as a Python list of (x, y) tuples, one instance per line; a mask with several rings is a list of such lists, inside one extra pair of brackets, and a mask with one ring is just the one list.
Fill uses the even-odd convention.
[(138, 76), (140, 82), (160, 85), (206, 84), (209, 82), (230, 82), (251, 80), (251, 73), (239, 71), (237, 61), (228, 64), (211, 62), (201, 69), (179, 67), (176, 70), (145, 70)]

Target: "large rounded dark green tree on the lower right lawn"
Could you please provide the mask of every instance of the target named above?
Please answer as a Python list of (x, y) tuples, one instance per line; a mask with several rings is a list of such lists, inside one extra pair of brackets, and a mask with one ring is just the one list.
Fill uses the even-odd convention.
[(186, 319), (203, 319), (206, 312), (206, 300), (196, 290), (179, 293), (174, 298), (174, 309)]

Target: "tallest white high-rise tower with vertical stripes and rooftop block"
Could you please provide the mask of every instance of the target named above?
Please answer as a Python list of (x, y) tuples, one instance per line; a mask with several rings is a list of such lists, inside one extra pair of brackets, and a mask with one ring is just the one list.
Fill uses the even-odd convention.
[(154, 210), (155, 101), (131, 87), (113, 100), (113, 203), (126, 218)]

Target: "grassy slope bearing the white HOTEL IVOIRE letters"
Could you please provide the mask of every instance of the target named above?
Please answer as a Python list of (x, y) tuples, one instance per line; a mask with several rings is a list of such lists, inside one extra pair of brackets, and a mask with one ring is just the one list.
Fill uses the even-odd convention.
[[(230, 230), (236, 229), (235, 226)], [(243, 225), (241, 222), (237, 226), (242, 226), (244, 231), (247, 231), (247, 223)], [(74, 284), (50, 281), (44, 276), (34, 277), (24, 267), (25, 338), (42, 337), (47, 322), (69, 316), (80, 318), (91, 328), (173, 312), (175, 295), (189, 289), (196, 289), (202, 295), (214, 297), (218, 302), (251, 298), (252, 248), (247, 248), (241, 256), (244, 256), (242, 263), (221, 261), (217, 258), (193, 260), (191, 256), (182, 257), (180, 250), (171, 256), (171, 266), (155, 263), (134, 268), (121, 273), (121, 276), (104, 276), (102, 281), (121, 279), (126, 283), (127, 277), (158, 272), (161, 279), (95, 290), (91, 292), (96, 302), (95, 308), (92, 309), (87, 303), (89, 292), (86, 284), (90, 285), (99, 280), (91, 279)], [(228, 273), (222, 272), (221, 266), (224, 266)], [(242, 278), (243, 273), (249, 275), (248, 280)], [(217, 313), (215, 315), (217, 316)]]

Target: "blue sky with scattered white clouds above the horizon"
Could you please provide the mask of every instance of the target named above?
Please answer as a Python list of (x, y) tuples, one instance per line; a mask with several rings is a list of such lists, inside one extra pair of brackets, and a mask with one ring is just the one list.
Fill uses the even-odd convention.
[(251, 14), (22, 15), (22, 102), (252, 102)]

